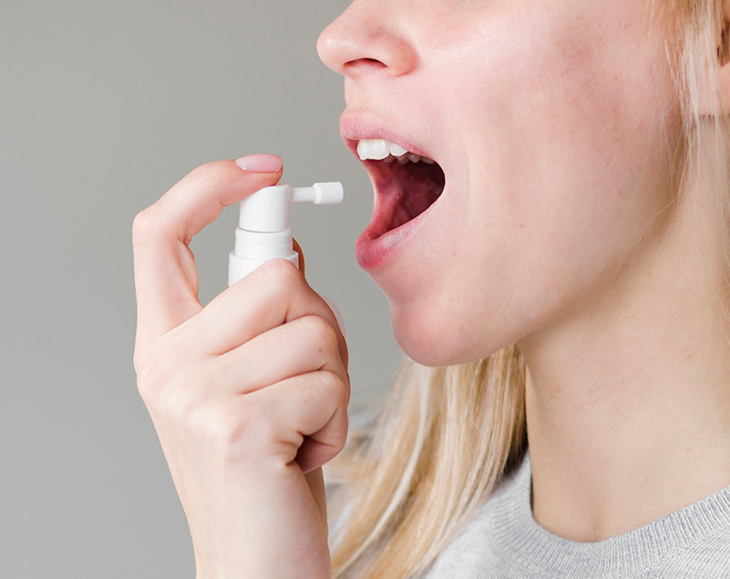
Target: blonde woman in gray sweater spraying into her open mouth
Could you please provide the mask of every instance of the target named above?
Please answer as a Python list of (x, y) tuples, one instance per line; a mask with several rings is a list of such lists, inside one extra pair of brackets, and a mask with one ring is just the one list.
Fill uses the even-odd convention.
[(375, 187), (358, 262), (423, 365), (355, 453), (332, 558), (334, 315), (279, 262), (203, 308), (187, 249), (281, 161), (203, 166), (140, 213), (139, 388), (199, 577), (730, 570), (729, 21), (355, 0), (324, 31)]

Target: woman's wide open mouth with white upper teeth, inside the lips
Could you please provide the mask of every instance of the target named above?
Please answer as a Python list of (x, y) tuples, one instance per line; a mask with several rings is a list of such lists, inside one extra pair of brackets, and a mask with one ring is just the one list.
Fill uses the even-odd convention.
[(444, 191), (440, 165), (386, 140), (361, 140), (357, 147), (375, 187), (373, 222), (365, 234), (376, 239), (411, 222)]

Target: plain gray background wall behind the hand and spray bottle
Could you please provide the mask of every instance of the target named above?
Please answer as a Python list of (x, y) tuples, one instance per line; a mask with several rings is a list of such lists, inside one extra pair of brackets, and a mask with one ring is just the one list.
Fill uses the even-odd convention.
[[(340, 306), (355, 408), (393, 382), (386, 300), (355, 264), (365, 171), (315, 42), (341, 0), (5, 2), (0, 12), (0, 574), (192, 577), (184, 514), (131, 364), (134, 215), (196, 166), (282, 155), (284, 182), (343, 181), (293, 209), (314, 288)], [(235, 210), (192, 249), (223, 289)]]

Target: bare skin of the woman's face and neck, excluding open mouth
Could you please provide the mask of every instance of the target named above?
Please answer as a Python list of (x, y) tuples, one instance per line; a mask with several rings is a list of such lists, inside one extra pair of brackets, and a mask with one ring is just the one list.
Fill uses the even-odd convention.
[(355, 0), (318, 46), (344, 138), (383, 127), (446, 175), (369, 268), (398, 342), (429, 366), (518, 344), (533, 513), (576, 541), (730, 484), (722, 260), (707, 191), (677, 198), (666, 36), (635, 0)]

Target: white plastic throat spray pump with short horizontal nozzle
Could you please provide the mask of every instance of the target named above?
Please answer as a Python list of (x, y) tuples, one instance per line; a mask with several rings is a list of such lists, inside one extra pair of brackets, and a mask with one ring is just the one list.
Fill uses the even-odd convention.
[(314, 183), (312, 187), (274, 185), (256, 191), (241, 202), (236, 247), (228, 263), (229, 286), (251, 274), (264, 262), (281, 257), (299, 267), (289, 226), (289, 203), (341, 203), (342, 183)]

